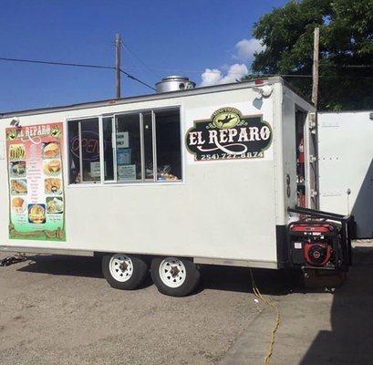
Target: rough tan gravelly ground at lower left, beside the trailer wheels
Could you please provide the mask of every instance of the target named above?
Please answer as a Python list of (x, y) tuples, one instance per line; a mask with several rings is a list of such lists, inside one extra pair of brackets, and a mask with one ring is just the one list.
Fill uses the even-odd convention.
[(0, 364), (216, 363), (261, 306), (246, 269), (202, 275), (196, 294), (175, 298), (150, 281), (112, 289), (92, 258), (38, 255), (0, 267)]

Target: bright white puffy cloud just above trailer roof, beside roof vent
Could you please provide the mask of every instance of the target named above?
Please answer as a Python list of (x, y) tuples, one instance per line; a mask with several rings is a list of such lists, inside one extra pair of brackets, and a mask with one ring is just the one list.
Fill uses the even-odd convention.
[(235, 82), (237, 79), (242, 78), (248, 73), (249, 70), (246, 65), (238, 63), (230, 66), (226, 74), (223, 74), (222, 70), (218, 68), (206, 68), (201, 76), (201, 86), (229, 84), (230, 82)]

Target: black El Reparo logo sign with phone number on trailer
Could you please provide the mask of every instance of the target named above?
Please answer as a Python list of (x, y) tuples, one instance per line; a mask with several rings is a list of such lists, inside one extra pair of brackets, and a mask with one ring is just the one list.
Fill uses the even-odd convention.
[(235, 108), (216, 110), (210, 120), (196, 120), (186, 145), (195, 161), (263, 158), (272, 141), (262, 116), (243, 116)]

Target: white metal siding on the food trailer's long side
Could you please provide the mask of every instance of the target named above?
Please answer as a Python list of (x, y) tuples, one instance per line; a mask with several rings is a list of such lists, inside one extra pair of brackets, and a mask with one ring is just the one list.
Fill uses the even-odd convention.
[[(254, 107), (256, 97), (252, 89), (237, 89), (56, 111), (21, 116), (19, 120), (21, 125), (33, 125), (179, 105), (183, 136), (193, 120), (209, 119), (213, 111), (222, 107), (237, 108), (243, 115), (263, 114), (264, 120), (274, 127), (281, 117), (275, 120), (273, 96), (264, 99), (260, 109)], [(10, 120), (1, 120), (1, 140)], [(66, 136), (67, 128), (64, 132)], [(281, 135), (275, 138), (276, 143), (281, 143)], [(265, 151), (264, 159), (252, 161), (194, 162), (184, 141), (182, 146), (183, 183), (67, 186), (66, 243), (9, 241), (7, 172), (5, 160), (1, 160), (0, 245), (275, 262), (275, 141)], [(67, 153), (64, 163), (67, 183)]]

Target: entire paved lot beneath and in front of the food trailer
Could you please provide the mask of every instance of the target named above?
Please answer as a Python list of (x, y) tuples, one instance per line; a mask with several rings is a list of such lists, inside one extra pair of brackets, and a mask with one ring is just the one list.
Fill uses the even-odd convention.
[[(272, 364), (372, 363), (373, 245), (354, 255), (335, 294), (255, 272), (282, 316)], [(0, 364), (262, 364), (274, 314), (254, 301), (247, 270), (207, 266), (202, 275), (196, 294), (174, 298), (151, 282), (111, 289), (91, 258), (0, 267)]]

